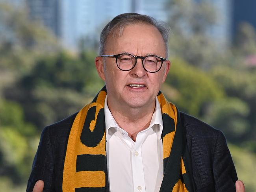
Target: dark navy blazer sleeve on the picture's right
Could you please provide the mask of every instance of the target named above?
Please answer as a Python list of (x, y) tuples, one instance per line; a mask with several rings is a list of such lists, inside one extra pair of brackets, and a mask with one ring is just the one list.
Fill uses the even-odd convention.
[(236, 192), (236, 169), (226, 144), (226, 138), (218, 131), (213, 152), (213, 177), (216, 192)]

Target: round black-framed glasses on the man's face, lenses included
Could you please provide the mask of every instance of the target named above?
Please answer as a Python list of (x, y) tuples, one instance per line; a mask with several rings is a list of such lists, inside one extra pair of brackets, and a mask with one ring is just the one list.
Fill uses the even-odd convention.
[(131, 54), (117, 54), (117, 55), (100, 55), (100, 57), (115, 57), (117, 62), (117, 67), (122, 71), (132, 70), (137, 63), (137, 59), (142, 59), (143, 68), (150, 73), (158, 72), (163, 65), (163, 61), (166, 61), (166, 58), (159, 57), (156, 55), (147, 55), (143, 57), (143, 56), (134, 56)]

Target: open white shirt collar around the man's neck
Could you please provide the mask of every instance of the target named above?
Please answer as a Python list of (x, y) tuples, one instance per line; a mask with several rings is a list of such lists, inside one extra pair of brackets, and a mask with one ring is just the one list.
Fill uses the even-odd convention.
[[(105, 114), (105, 125), (106, 125), (106, 141), (108, 142), (109, 139), (111, 138), (111, 136), (113, 135), (113, 131), (109, 131), (109, 130), (113, 129), (113, 128), (115, 128), (115, 129), (121, 129), (121, 128), (118, 126), (117, 122), (115, 121), (114, 117), (112, 116), (112, 114), (111, 114), (111, 112), (108, 108), (107, 99), (108, 99), (108, 94), (106, 95), (105, 103), (104, 103), (104, 114)], [(159, 126), (154, 126), (156, 124), (158, 124)], [(151, 122), (150, 122), (150, 125), (149, 125), (148, 128), (150, 128), (150, 127), (153, 127), (154, 129), (156, 129), (154, 131), (156, 131), (158, 139), (161, 139), (161, 134), (162, 134), (162, 131), (163, 131), (163, 119), (162, 119), (160, 103), (159, 103), (157, 98), (156, 98), (155, 111), (152, 115)], [(159, 130), (156, 127), (159, 127)], [(143, 131), (146, 131), (147, 129), (145, 129)], [(124, 130), (122, 130), (122, 131), (124, 131)]]

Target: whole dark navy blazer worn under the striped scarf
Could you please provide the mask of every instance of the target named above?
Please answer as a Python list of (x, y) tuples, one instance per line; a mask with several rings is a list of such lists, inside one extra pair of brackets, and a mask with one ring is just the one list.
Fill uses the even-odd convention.
[[(27, 192), (36, 181), (45, 182), (44, 192), (62, 191), (62, 176), (70, 129), (76, 114), (45, 127), (28, 180)], [(236, 192), (236, 170), (223, 133), (208, 124), (180, 113), (191, 155), (197, 192)], [(106, 188), (108, 174), (106, 174)]]

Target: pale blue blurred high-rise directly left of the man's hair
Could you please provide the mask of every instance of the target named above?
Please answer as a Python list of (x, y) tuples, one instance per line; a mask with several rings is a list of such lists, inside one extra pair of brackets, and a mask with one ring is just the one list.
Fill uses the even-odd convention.
[(130, 0), (62, 0), (60, 7), (61, 37), (64, 45), (72, 48), (81, 38), (87, 38), (90, 46), (90, 40), (98, 39), (103, 24), (131, 10)]

